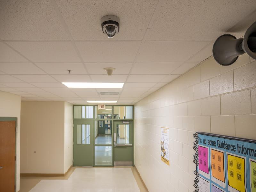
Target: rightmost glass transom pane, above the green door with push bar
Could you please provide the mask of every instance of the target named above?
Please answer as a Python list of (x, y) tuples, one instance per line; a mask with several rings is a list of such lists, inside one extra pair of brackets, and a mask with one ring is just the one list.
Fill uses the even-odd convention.
[(133, 107), (132, 106), (114, 106), (114, 119), (132, 119)]

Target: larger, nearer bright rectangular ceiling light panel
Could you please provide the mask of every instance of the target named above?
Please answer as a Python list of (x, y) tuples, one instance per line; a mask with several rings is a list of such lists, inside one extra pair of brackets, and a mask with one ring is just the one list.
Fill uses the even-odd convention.
[(62, 82), (68, 88), (122, 88), (124, 83)]

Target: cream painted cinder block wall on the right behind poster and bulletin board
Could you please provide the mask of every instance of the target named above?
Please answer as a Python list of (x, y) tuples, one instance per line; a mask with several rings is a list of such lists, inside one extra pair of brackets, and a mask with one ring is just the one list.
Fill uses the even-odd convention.
[[(256, 139), (256, 61), (230, 66), (208, 58), (135, 105), (135, 165), (149, 191), (194, 191), (193, 133)], [(160, 159), (160, 126), (169, 127), (170, 166)]]

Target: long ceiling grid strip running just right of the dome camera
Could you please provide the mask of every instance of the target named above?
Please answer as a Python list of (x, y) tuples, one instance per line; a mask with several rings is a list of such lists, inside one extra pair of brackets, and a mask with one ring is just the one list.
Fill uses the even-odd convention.
[[(148, 23), (148, 27), (151, 25), (152, 26), (152, 21), (151, 20), (155, 20), (155, 17), (156, 16), (154, 16), (154, 15), (156, 15), (157, 14), (157, 12), (159, 12), (159, 7), (160, 7), (160, 5), (161, 5), (161, 2), (162, 2), (162, 0), (158, 0), (158, 2), (157, 2), (157, 4), (156, 4), (156, 8), (155, 8), (155, 10), (154, 10), (154, 12), (153, 12), (153, 14), (152, 14), (152, 16), (151, 16), (151, 18), (150, 18), (150, 21), (149, 21), (149, 23)], [(159, 4), (159, 5), (158, 5)], [(154, 18), (153, 18), (154, 17)], [(136, 62), (136, 60), (137, 60), (137, 57), (138, 57), (138, 55), (139, 55), (139, 53), (140, 53), (140, 51), (141, 51), (141, 47), (142, 47), (142, 45), (144, 44), (144, 42), (145, 42), (145, 38), (146, 38), (146, 34), (147, 34), (147, 31), (148, 31), (148, 27), (147, 27), (147, 29), (146, 29), (146, 31), (145, 31), (145, 33), (144, 33), (144, 35), (143, 35), (143, 38), (142, 38), (142, 41), (140, 42), (140, 46), (139, 46), (139, 49), (137, 50), (137, 53), (136, 53), (136, 55), (135, 55), (135, 57), (134, 57), (134, 60), (133, 60), (133, 62), (132, 62), (132, 66), (131, 66), (131, 68), (130, 68), (130, 70), (129, 70), (129, 73), (128, 73), (128, 76), (126, 77), (126, 80), (125, 80), (125, 82), (124, 82), (124, 86), (125, 86), (125, 83), (126, 83), (126, 81), (127, 81), (127, 79), (129, 78), (129, 76), (130, 76), (130, 73), (131, 73), (131, 71), (132, 71), (132, 68), (133, 68), (133, 66), (134, 66), (134, 63)], [(149, 89), (148, 89), (149, 90)], [(122, 92), (123, 92), (123, 90), (120, 92), (120, 95), (122, 94)], [(144, 92), (145, 93), (145, 92)], [(144, 94), (143, 93), (143, 94)], [(142, 95), (143, 95), (142, 94)], [(119, 96), (119, 98), (120, 98), (120, 96)], [(118, 98), (118, 99), (119, 99)]]

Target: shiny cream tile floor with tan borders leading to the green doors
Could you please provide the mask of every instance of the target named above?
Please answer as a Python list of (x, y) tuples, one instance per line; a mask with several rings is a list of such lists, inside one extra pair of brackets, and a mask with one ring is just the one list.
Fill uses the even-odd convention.
[(134, 167), (73, 167), (65, 177), (21, 177), (20, 192), (146, 192)]

